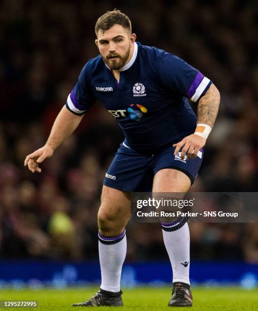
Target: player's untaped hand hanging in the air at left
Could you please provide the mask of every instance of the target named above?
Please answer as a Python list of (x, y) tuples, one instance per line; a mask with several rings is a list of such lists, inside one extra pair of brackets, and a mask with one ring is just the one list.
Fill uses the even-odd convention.
[(28, 166), (28, 169), (34, 173), (41, 173), (41, 168), (39, 168), (39, 163), (42, 163), (45, 159), (52, 157), (54, 150), (49, 146), (44, 146), (29, 155), (27, 155), (24, 166)]

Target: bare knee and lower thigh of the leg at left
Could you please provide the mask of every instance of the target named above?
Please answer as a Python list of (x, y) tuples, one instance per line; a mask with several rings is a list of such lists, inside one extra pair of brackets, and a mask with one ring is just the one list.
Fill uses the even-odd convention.
[(99, 227), (123, 229), (131, 216), (131, 195), (129, 192), (103, 185), (101, 204), (98, 211)]

